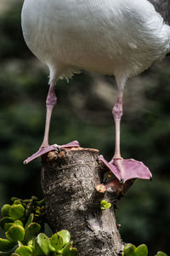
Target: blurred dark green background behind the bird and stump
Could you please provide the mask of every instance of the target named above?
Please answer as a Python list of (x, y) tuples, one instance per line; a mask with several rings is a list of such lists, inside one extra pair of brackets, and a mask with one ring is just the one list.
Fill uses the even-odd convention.
[[(23, 165), (42, 143), (48, 70), (26, 47), (20, 27), (23, 1), (0, 2), (0, 205), (11, 196), (42, 197), (40, 160)], [(170, 61), (128, 81), (122, 118), (122, 156), (142, 160), (153, 180), (138, 180), (118, 203), (122, 240), (146, 243), (150, 255), (170, 252)], [(77, 139), (114, 153), (114, 77), (83, 72), (56, 86), (50, 143)]]

